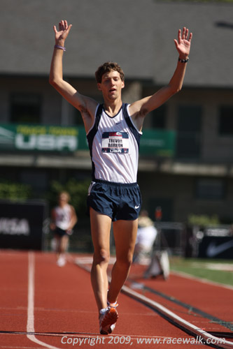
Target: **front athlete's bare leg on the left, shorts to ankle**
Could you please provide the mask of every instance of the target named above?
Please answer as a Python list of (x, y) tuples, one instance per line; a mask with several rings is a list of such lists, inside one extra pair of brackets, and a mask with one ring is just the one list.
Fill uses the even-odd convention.
[(90, 223), (94, 255), (91, 271), (92, 288), (98, 309), (106, 308), (108, 277), (107, 267), (110, 256), (111, 218), (90, 208)]

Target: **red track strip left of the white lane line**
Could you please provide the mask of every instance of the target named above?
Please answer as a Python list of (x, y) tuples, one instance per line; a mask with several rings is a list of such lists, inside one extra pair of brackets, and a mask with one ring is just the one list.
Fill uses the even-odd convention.
[(27, 327), (28, 253), (0, 251), (0, 348), (38, 348), (29, 343)]

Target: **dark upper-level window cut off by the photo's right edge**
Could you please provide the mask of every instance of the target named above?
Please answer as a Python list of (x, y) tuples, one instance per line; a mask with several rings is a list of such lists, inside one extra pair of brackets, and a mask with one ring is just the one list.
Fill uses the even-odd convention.
[(219, 134), (233, 135), (233, 105), (222, 105), (219, 108)]

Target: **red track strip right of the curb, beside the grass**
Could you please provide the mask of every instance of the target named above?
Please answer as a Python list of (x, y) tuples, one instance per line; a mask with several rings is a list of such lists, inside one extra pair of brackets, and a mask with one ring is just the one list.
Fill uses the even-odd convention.
[[(130, 276), (129, 276), (130, 279)], [(134, 279), (132, 280), (132, 287)], [(128, 281), (130, 284), (130, 281)], [(211, 314), (214, 318), (222, 319), (223, 322), (230, 322), (229, 329), (233, 330), (232, 323), (232, 312), (230, 311), (230, 305), (232, 304), (232, 290), (223, 288), (220, 285), (210, 285), (208, 283), (200, 283), (197, 280), (185, 279), (184, 277), (171, 274), (169, 281), (164, 282), (163, 280), (153, 279), (137, 279), (136, 283), (145, 286), (143, 292), (151, 294), (151, 290), (157, 292), (157, 299), (163, 304), (170, 304), (170, 306), (178, 306), (181, 304), (187, 305), (187, 313), (195, 313), (195, 309), (199, 310), (200, 313), (196, 312), (196, 315), (201, 315), (201, 312)], [(164, 297), (162, 296), (164, 295)], [(167, 296), (167, 299), (165, 298)], [(170, 298), (170, 300), (169, 300)], [(177, 302), (175, 302), (177, 300)], [(188, 305), (190, 306), (188, 308)], [(183, 311), (184, 311), (184, 307)]]

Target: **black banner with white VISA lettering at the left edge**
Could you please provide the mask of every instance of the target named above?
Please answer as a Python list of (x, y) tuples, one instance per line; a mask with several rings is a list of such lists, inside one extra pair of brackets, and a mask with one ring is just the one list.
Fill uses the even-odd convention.
[(42, 250), (47, 215), (43, 201), (0, 201), (0, 248)]

